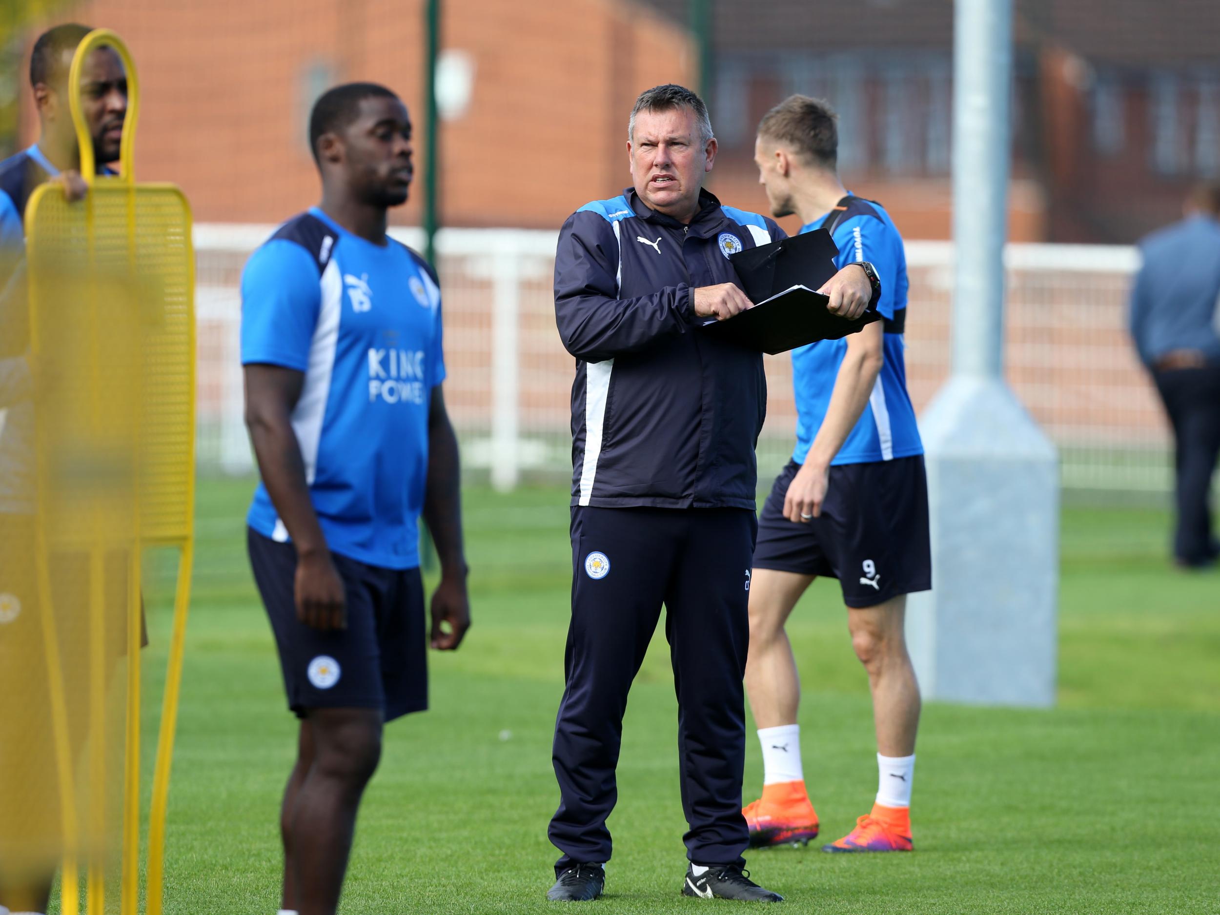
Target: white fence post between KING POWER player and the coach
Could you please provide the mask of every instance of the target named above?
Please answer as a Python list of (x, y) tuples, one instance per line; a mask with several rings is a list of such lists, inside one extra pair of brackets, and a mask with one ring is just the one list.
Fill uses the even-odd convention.
[(492, 486), (512, 489), (521, 477), (518, 329), (521, 323), (520, 256), (495, 255), (492, 278)]

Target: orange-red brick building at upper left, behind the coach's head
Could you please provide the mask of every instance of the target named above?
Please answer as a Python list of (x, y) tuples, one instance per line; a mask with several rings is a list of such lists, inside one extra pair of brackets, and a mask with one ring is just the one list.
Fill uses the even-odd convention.
[[(473, 63), (468, 109), (442, 132), (447, 224), (558, 227), (584, 201), (617, 193), (630, 181), (636, 95), (693, 72), (684, 29), (620, 0), (443, 9), (442, 46)], [(329, 85), (384, 83), (420, 127), (422, 0), (61, 4), (54, 22), (71, 20), (128, 43), (143, 85), (137, 176), (181, 184), (198, 221), (276, 222), (316, 201), (306, 128)], [(23, 142), (34, 135), (29, 107)], [(418, 143), (416, 155), (422, 163)], [(418, 222), (420, 196), (399, 221)]]

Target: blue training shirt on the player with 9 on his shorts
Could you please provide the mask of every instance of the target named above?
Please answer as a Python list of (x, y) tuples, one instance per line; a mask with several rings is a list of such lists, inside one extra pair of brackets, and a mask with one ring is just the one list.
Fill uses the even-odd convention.
[[(838, 246), (836, 266), (869, 261), (881, 278), (877, 311), (886, 318), (884, 362), (877, 375), (869, 404), (848, 433), (831, 464), (865, 464), (924, 454), (915, 425), (915, 410), (906, 393), (906, 362), (902, 328), (906, 317), (906, 255), (903, 239), (880, 204), (850, 195), (845, 198), (832, 237)], [(832, 211), (837, 212), (837, 211)], [(832, 214), (802, 226), (821, 228)], [(809, 448), (826, 418), (834, 379), (847, 354), (847, 340), (819, 340), (792, 351), (792, 383), (797, 400), (797, 447), (792, 459), (805, 462)]]

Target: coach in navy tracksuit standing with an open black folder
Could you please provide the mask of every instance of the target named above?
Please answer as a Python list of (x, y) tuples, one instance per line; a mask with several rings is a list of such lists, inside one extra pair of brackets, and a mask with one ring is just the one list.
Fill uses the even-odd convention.
[[(750, 307), (728, 255), (784, 237), (703, 189), (716, 159), (689, 89), (640, 94), (627, 128), (633, 187), (569, 217), (555, 318), (572, 384), (572, 620), (553, 759), (562, 852), (551, 899), (601, 894), (627, 692), (666, 606), (689, 831), (686, 895), (780, 902), (742, 867), (742, 677), (754, 538), (761, 354), (702, 332)], [(825, 287), (856, 318), (872, 289), (848, 265)]]

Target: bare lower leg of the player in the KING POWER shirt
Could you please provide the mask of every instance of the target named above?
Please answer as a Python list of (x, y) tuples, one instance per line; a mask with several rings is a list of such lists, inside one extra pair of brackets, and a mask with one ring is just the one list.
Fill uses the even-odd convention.
[[(377, 709), (311, 709), (312, 764), (285, 811), (284, 908), (300, 915), (333, 915), (343, 891), (356, 811), (381, 759)], [(289, 782), (289, 791), (292, 782)], [(293, 900), (295, 906), (287, 903)]]

